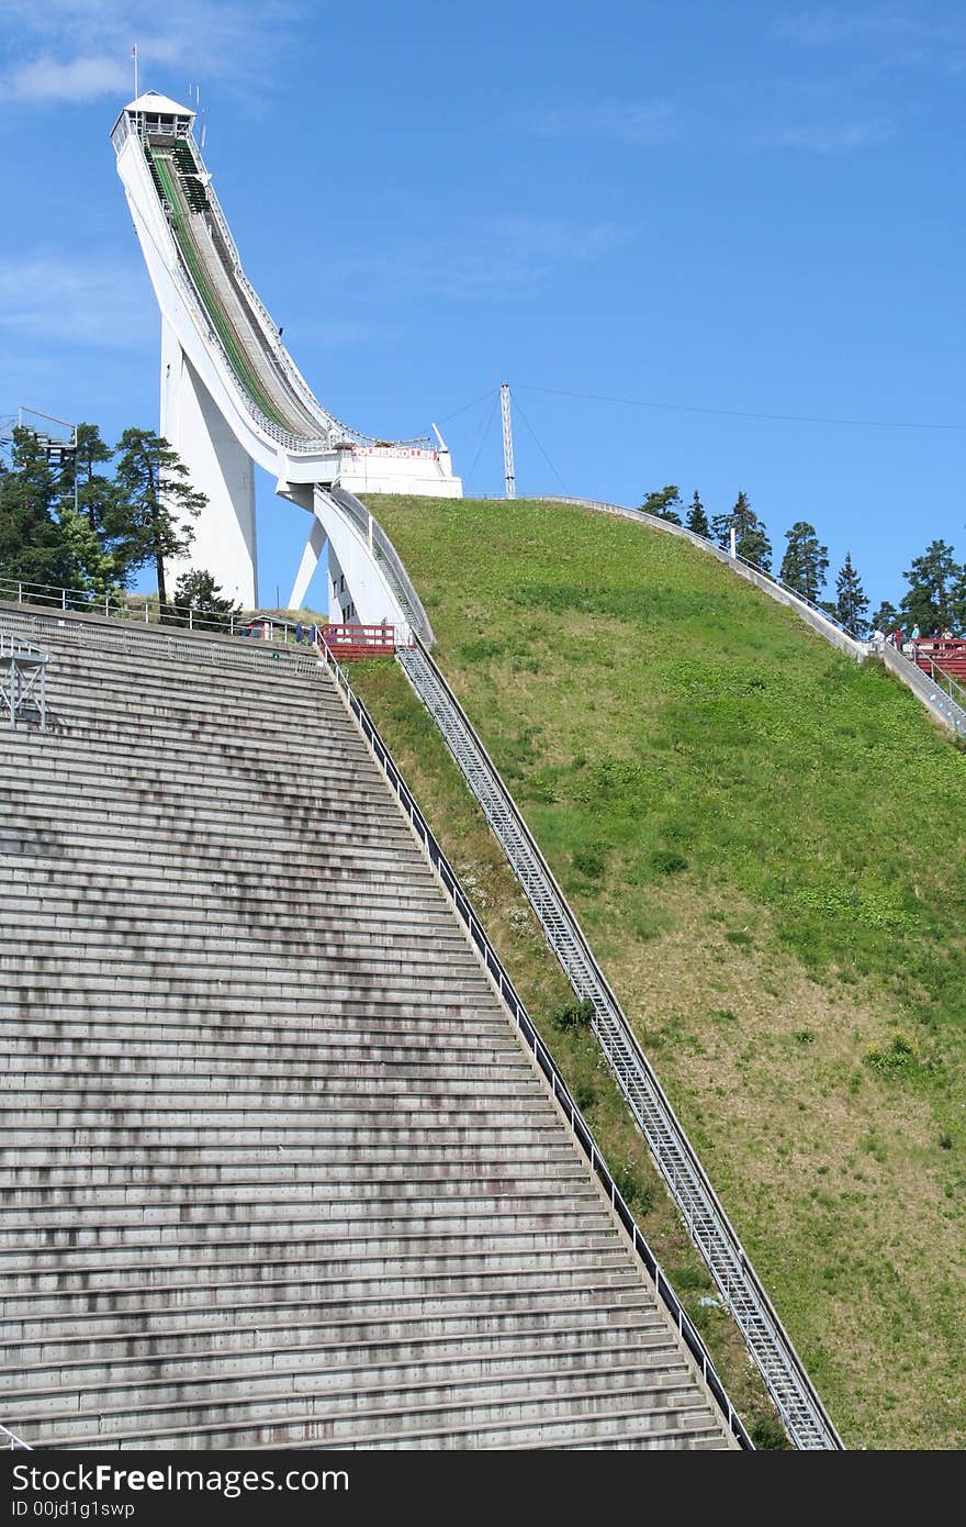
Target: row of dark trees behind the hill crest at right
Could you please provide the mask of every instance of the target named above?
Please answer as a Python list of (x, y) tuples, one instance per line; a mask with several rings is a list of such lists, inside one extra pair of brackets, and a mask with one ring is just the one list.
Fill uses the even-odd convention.
[[(725, 551), (731, 550), (734, 528), (736, 553), (746, 562), (754, 562), (766, 573), (772, 571), (772, 545), (765, 521), (758, 519), (746, 493), (739, 493), (733, 508), (708, 519), (700, 495), (694, 490), (687, 513), (681, 492), (668, 483), (647, 493), (641, 508), (658, 519), (675, 525), (687, 525), (697, 536), (713, 541)], [(682, 519), (684, 513), (684, 519)], [(818, 539), (815, 525), (798, 519), (784, 533), (786, 550), (778, 568), (778, 577), (804, 599), (835, 615), (853, 635), (864, 638), (879, 629), (888, 635), (897, 626), (919, 626), (931, 631), (966, 632), (966, 563), (955, 560), (954, 548), (945, 541), (932, 541), (920, 557), (902, 576), (908, 583), (899, 606), (884, 600), (870, 615), (870, 600), (855, 568), (852, 554), (835, 576), (835, 599), (823, 599), (829, 574), (829, 548)]]

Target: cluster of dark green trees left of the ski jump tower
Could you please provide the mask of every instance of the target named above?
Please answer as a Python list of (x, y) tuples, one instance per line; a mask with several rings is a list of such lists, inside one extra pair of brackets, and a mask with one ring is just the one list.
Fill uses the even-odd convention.
[(206, 502), (177, 452), (150, 429), (125, 429), (108, 446), (96, 425), (78, 425), (73, 450), (49, 450), (34, 431), (14, 429), (0, 460), (0, 574), (121, 596), (154, 565), (166, 618), (186, 620), (188, 608), (238, 614), (203, 570), (179, 579), (168, 602), (165, 562), (186, 556)]

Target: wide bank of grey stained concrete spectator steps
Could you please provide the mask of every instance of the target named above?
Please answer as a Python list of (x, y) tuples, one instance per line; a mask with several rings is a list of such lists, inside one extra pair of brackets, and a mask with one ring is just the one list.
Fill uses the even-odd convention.
[(0, 629), (49, 652), (0, 728), (0, 1422), (745, 1441), (314, 657)]

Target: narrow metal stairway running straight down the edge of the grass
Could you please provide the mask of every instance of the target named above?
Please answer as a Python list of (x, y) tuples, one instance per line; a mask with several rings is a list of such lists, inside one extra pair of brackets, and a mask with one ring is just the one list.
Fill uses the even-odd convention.
[(841, 1449), (842, 1441), (801, 1358), (594, 959), (574, 912), (472, 722), (418, 637), (415, 646), (397, 652), (397, 661), (479, 802), (577, 997), (594, 1003), (592, 1025), (601, 1051), (681, 1209), (691, 1240), (745, 1336), (791, 1440), (800, 1449)]

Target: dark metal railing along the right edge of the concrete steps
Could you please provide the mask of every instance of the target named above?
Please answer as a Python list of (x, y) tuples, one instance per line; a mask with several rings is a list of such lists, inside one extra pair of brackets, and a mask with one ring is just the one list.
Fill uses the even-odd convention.
[(450, 861), (447, 860), (440, 843), (436, 841), (436, 837), (432, 828), (429, 826), (426, 817), (420, 811), (415, 797), (412, 796), (409, 786), (406, 785), (406, 780), (403, 779), (395, 765), (392, 754), (389, 753), (389, 748), (378, 734), (378, 730), (372, 718), (369, 716), (362, 699), (353, 690), (342, 664), (336, 660), (334, 654), (327, 646), (324, 632), (319, 632), (319, 654), (322, 655), (325, 667), (328, 669), (333, 683), (336, 684), (336, 689), (345, 704), (345, 709), (348, 710), (349, 716), (359, 727), (359, 731), (362, 733), (365, 742), (368, 744), (372, 757), (375, 759), (389, 786), (392, 788), (401, 811), (409, 820), (409, 825), (423, 852), (426, 854), (429, 864), (435, 870), (440, 884), (443, 886), (443, 890), (446, 892), (450, 904), (453, 906), (453, 910), (464, 924), (470, 936), (470, 941), (479, 959), (482, 960), (487, 976), (490, 977), (501, 1000), (510, 1011), (523, 1041), (533, 1052), (537, 1066), (540, 1067), (546, 1081), (549, 1083), (552, 1095), (555, 1101), (560, 1104), (563, 1115), (571, 1127), (571, 1133), (574, 1135), (574, 1139), (577, 1141), (577, 1144), (580, 1145), (581, 1151), (584, 1153), (589, 1162), (591, 1171), (600, 1180), (604, 1193), (610, 1200), (613, 1212), (617, 1214), (627, 1235), (630, 1237), (633, 1251), (636, 1252), (638, 1258), (644, 1263), (649, 1275), (653, 1278), (658, 1296), (673, 1316), (681, 1338), (684, 1339), (684, 1342), (688, 1347), (688, 1351), (697, 1362), (697, 1367), (700, 1368), (707, 1387), (711, 1390), (723, 1416), (726, 1417), (729, 1431), (737, 1438), (740, 1448), (754, 1451), (754, 1443), (751, 1441), (751, 1437), (748, 1435), (748, 1431), (745, 1429), (745, 1425), (739, 1412), (734, 1409), (734, 1405), (728, 1397), (728, 1391), (725, 1390), (722, 1379), (717, 1370), (714, 1368), (714, 1364), (711, 1362), (708, 1350), (697, 1328), (693, 1325), (690, 1316), (687, 1315), (684, 1306), (681, 1304), (681, 1299), (678, 1298), (671, 1284), (668, 1283), (658, 1258), (655, 1257), (653, 1251), (647, 1245), (647, 1240), (641, 1234), (641, 1229), (633, 1214), (630, 1212), (620, 1188), (617, 1186), (617, 1182), (610, 1176), (610, 1170), (607, 1168), (607, 1164), (601, 1156), (600, 1147), (597, 1145), (583, 1115), (580, 1113), (577, 1104), (571, 1096), (571, 1092), (560, 1070), (557, 1069), (555, 1060), (552, 1058), (552, 1055), (543, 1044), (543, 1040), (537, 1034), (536, 1026), (530, 1019), (526, 1008), (520, 1002), (516, 986), (513, 985), (504, 967), (504, 962), (501, 960), (493, 944), (490, 942), (482, 922), (479, 921), (479, 918), (473, 910), (470, 898), (459, 884), (459, 880), (456, 878), (456, 873)]

